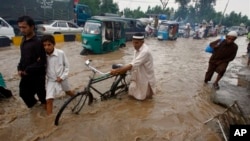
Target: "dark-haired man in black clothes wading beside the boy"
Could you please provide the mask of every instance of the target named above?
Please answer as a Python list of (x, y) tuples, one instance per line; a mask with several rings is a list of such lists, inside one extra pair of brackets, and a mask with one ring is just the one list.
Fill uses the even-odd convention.
[(24, 35), (20, 46), (21, 58), (17, 66), (18, 75), (21, 77), (19, 93), (27, 107), (31, 108), (37, 103), (35, 94), (42, 104), (46, 103), (46, 53), (35, 35), (35, 22), (31, 17), (20, 17), (18, 27)]

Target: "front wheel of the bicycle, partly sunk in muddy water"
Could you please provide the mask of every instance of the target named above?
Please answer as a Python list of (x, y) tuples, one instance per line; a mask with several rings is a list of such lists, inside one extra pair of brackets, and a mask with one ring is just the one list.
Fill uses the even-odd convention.
[(79, 114), (85, 104), (90, 105), (93, 102), (93, 95), (86, 91), (79, 92), (75, 96), (70, 97), (60, 108), (55, 118), (55, 125), (59, 121), (68, 119), (72, 114)]

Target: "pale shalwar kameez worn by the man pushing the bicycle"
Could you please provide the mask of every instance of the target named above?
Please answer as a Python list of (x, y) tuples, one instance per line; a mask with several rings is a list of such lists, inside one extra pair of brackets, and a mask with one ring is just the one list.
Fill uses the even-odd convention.
[(130, 64), (132, 69), (129, 95), (144, 100), (147, 96), (155, 94), (153, 57), (147, 45), (143, 44), (138, 51), (135, 50)]

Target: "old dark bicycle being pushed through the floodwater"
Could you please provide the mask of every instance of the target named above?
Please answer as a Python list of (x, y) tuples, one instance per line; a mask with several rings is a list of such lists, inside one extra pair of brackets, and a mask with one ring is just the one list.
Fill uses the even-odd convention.
[[(59, 109), (56, 118), (55, 118), (55, 125), (59, 125), (59, 121), (62, 118), (62, 114), (79, 114), (79, 112), (82, 110), (83, 106), (85, 104), (91, 105), (93, 101), (95, 100), (92, 90), (95, 91), (97, 94), (99, 94), (101, 101), (107, 100), (110, 98), (116, 98), (117, 95), (127, 92), (128, 86), (129, 86), (129, 79), (127, 77), (128, 73), (120, 74), (113, 76), (109, 72), (103, 73), (93, 66), (90, 65), (91, 60), (86, 60), (85, 65), (92, 70), (93, 74), (90, 76), (89, 82), (84, 88), (82, 92), (78, 92), (73, 97), (70, 97), (65, 103), (62, 105), (62, 107)], [(112, 68), (119, 68), (121, 67), (121, 64), (113, 64)], [(99, 77), (95, 77), (96, 73), (101, 74)], [(114, 81), (111, 85), (111, 87), (105, 91), (104, 93), (100, 92), (93, 86), (93, 84), (114, 78)]]

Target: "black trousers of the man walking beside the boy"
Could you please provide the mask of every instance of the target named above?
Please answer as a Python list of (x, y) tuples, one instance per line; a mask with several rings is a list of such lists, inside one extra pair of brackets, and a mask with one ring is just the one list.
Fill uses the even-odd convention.
[(42, 104), (46, 103), (45, 75), (44, 76), (22, 76), (19, 84), (19, 94), (28, 108), (37, 103), (35, 94)]

